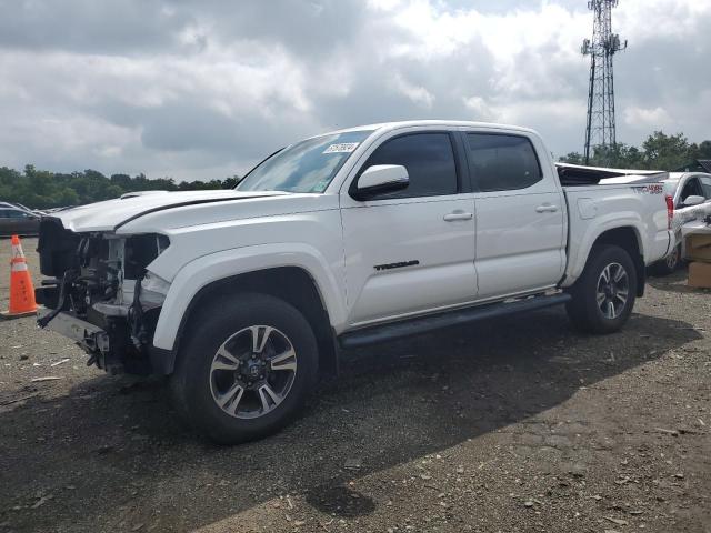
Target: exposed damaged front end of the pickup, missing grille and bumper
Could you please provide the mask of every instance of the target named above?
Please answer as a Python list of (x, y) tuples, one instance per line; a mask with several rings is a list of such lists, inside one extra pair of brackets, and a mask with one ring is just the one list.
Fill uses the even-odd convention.
[(149, 374), (153, 331), (170, 283), (148, 265), (170, 245), (166, 235), (76, 233), (59, 219), (40, 224), (36, 290), (46, 309), (38, 324), (77, 341), (87, 364), (108, 372)]

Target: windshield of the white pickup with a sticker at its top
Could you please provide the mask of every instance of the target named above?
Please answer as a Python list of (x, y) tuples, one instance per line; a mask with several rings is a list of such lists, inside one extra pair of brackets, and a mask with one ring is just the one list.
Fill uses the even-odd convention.
[(323, 192), (373, 130), (331, 133), (298, 142), (257, 165), (239, 191)]

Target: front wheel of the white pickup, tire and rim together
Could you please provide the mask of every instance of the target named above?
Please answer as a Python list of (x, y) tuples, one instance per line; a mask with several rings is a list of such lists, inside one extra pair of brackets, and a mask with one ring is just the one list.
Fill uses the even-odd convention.
[(221, 296), (199, 316), (171, 378), (183, 418), (221, 444), (289, 424), (318, 372), (317, 341), (304, 316), (267, 294)]

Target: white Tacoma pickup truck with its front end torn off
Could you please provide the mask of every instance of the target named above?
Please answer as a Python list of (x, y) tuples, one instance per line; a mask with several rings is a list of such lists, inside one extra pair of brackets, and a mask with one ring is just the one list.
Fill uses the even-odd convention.
[(341, 349), (554, 304), (580, 329), (620, 329), (644, 266), (674, 245), (663, 189), (570, 171), (508, 125), (313, 137), (236, 190), (44, 217), (39, 323), (100, 368), (171, 374), (211, 439), (254, 439), (294, 416)]

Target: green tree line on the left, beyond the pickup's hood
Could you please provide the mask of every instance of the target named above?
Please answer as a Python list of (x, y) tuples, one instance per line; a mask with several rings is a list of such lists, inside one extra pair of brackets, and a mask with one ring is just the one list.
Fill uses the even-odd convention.
[(0, 201), (21, 203), (31, 209), (49, 209), (99, 202), (134, 191), (194, 191), (202, 189), (232, 189), (240, 178), (224, 180), (182, 181), (172, 178), (150, 180), (146, 174), (134, 177), (112, 174), (107, 178), (96, 170), (83, 172), (50, 172), (28, 164), (23, 171), (0, 168)]

